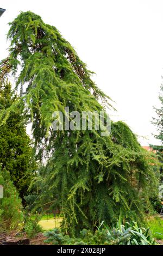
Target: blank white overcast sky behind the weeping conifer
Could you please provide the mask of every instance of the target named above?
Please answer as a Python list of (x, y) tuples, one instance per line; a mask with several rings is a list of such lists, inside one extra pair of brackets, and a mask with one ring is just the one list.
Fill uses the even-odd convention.
[[(142, 145), (159, 144), (152, 133), (163, 74), (162, 0), (5, 0), (0, 19), (0, 59), (7, 56), (7, 23), (31, 10), (59, 29), (98, 87), (116, 102), (113, 120), (123, 120)], [(145, 136), (147, 139), (143, 139)]]

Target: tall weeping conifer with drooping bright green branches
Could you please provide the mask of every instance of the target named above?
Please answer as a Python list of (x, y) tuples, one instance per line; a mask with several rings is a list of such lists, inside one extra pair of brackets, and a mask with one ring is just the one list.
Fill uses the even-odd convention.
[(110, 224), (120, 214), (141, 217), (141, 198), (148, 202), (155, 192), (155, 160), (126, 124), (112, 123), (111, 135), (105, 137), (95, 130), (52, 130), (53, 112), (64, 112), (66, 106), (79, 113), (99, 113), (111, 106), (91, 80), (92, 72), (55, 27), (30, 11), (10, 23), (8, 39), (10, 52), (1, 62), (1, 79), (17, 75), (21, 100), (12, 108), (24, 102), (37, 157), (47, 159), (35, 181), (42, 187), (41, 202), (48, 202), (48, 196), (53, 208), (60, 208), (62, 227), (71, 234), (84, 227), (93, 230), (101, 221)]

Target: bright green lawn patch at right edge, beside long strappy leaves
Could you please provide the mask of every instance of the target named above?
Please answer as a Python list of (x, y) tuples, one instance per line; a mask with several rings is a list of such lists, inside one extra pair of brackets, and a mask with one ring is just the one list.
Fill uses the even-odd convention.
[(152, 231), (153, 237), (158, 240), (163, 240), (163, 218), (152, 216), (148, 218), (147, 224)]

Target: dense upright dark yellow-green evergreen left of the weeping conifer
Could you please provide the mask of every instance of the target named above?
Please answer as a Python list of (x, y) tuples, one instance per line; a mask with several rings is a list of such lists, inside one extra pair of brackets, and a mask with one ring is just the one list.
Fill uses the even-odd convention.
[[(16, 101), (17, 96), (12, 92), (10, 82), (0, 83), (1, 114), (10, 109)], [(0, 163), (2, 171), (10, 173), (10, 179), (25, 203), (24, 196), (28, 194), (36, 166), (24, 124), (23, 105), (10, 111), (9, 115), (5, 115), (5, 119), (6, 122), (2, 122), (0, 126)]]

